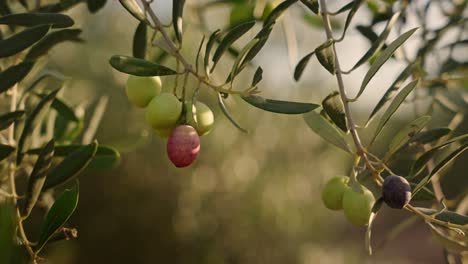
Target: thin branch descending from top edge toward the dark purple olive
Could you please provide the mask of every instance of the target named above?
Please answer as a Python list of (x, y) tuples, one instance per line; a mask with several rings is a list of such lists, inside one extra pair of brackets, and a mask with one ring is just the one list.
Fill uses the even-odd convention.
[[(322, 14), (323, 24), (324, 24), (324, 27), (325, 27), (325, 32), (327, 34), (327, 39), (333, 40), (332, 28), (331, 28), (331, 24), (330, 24), (329, 14), (328, 14), (328, 11), (327, 11), (326, 0), (320, 0), (320, 8), (321, 8), (320, 12)], [(340, 62), (339, 62), (338, 56), (336, 54), (335, 42), (333, 42), (332, 48), (333, 48), (333, 52), (335, 53), (335, 75), (336, 75), (336, 80), (338, 82), (340, 98), (341, 98), (341, 101), (343, 102), (344, 112), (345, 112), (346, 120), (347, 120), (347, 123), (348, 123), (349, 131), (350, 131), (351, 136), (353, 138), (354, 145), (356, 146), (356, 151), (357, 151), (356, 154), (359, 156), (359, 158), (362, 158), (364, 160), (366, 166), (372, 171), (374, 180), (377, 181), (377, 182), (380, 182), (382, 179), (380, 177), (379, 171), (376, 170), (369, 161), (369, 158), (367, 156), (367, 151), (366, 151), (366, 149), (364, 148), (364, 146), (361, 143), (361, 139), (360, 139), (359, 134), (357, 132), (356, 124), (354, 123), (354, 120), (353, 120), (353, 117), (352, 117), (352, 114), (351, 114), (351, 110), (350, 110), (350, 107), (349, 107), (349, 99), (346, 96), (346, 90), (345, 90), (345, 87), (344, 87)], [(355, 176), (351, 177), (352, 180), (353, 180), (353, 178), (355, 178)]]

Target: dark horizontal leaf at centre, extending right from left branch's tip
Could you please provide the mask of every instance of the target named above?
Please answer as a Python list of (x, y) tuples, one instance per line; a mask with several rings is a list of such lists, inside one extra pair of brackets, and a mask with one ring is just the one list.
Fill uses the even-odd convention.
[(279, 114), (304, 114), (319, 107), (319, 105), (317, 104), (278, 101), (272, 99), (265, 99), (257, 95), (241, 96), (241, 98), (244, 99), (244, 101), (246, 101), (247, 103), (257, 108)]

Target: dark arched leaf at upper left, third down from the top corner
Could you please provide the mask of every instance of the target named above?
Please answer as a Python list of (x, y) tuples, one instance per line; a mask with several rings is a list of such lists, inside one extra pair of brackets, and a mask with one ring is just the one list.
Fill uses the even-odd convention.
[(47, 54), (50, 49), (61, 42), (83, 42), (79, 37), (80, 34), (81, 29), (62, 29), (51, 32), (29, 50), (26, 54), (25, 60), (36, 60), (37, 58)]

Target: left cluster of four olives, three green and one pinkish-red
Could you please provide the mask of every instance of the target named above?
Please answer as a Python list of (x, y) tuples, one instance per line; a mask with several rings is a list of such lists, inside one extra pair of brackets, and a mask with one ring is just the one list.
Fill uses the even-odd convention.
[(176, 167), (195, 161), (200, 151), (200, 136), (213, 128), (214, 115), (202, 102), (181, 102), (172, 93), (161, 92), (161, 79), (130, 75), (126, 93), (129, 101), (145, 108), (145, 120), (155, 133), (167, 138), (167, 155)]

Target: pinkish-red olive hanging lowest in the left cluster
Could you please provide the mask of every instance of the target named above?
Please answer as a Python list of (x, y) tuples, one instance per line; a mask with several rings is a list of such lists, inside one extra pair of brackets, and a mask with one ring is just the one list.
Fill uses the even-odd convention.
[(181, 125), (172, 130), (167, 140), (167, 156), (178, 167), (192, 164), (200, 151), (200, 137), (195, 128)]

